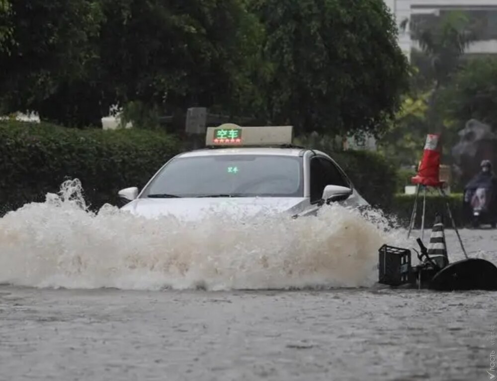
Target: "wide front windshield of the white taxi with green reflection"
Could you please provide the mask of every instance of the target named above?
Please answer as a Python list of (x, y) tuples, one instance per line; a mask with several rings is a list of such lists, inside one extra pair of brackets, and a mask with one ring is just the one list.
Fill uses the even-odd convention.
[(302, 158), (283, 155), (179, 157), (141, 197), (302, 197)]

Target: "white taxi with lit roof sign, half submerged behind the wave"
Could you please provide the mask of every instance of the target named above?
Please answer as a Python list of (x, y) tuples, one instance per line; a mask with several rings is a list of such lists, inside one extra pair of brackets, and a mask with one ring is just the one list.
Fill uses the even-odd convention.
[(119, 191), (129, 201), (121, 210), (198, 220), (209, 212), (296, 217), (331, 202), (369, 205), (330, 156), (292, 140), (292, 126), (208, 127), (205, 149), (176, 155), (141, 191)]

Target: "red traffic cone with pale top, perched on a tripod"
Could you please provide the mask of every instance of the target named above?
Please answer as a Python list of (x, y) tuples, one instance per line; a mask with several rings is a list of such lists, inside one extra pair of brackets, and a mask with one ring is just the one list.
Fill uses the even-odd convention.
[(428, 134), (424, 145), (423, 157), (417, 175), (411, 179), (413, 184), (427, 187), (440, 187), (440, 134)]

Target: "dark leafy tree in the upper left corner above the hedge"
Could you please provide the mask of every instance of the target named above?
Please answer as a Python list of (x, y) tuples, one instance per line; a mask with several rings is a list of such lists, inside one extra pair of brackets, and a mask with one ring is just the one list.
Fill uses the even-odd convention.
[[(94, 119), (101, 107), (97, 0), (11, 0), (8, 41), (0, 52), (1, 111), (37, 111), (66, 124)], [(91, 105), (89, 107), (88, 105)], [(107, 106), (108, 108), (108, 106)]]

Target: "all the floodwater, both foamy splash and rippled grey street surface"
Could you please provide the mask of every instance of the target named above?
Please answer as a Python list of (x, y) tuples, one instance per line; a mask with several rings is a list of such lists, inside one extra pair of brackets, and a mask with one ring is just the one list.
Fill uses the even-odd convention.
[[(371, 217), (27, 205), (0, 219), (0, 380), (489, 380), (497, 293), (379, 287), (378, 248), (415, 246)], [(497, 263), (496, 230), (461, 235)]]

